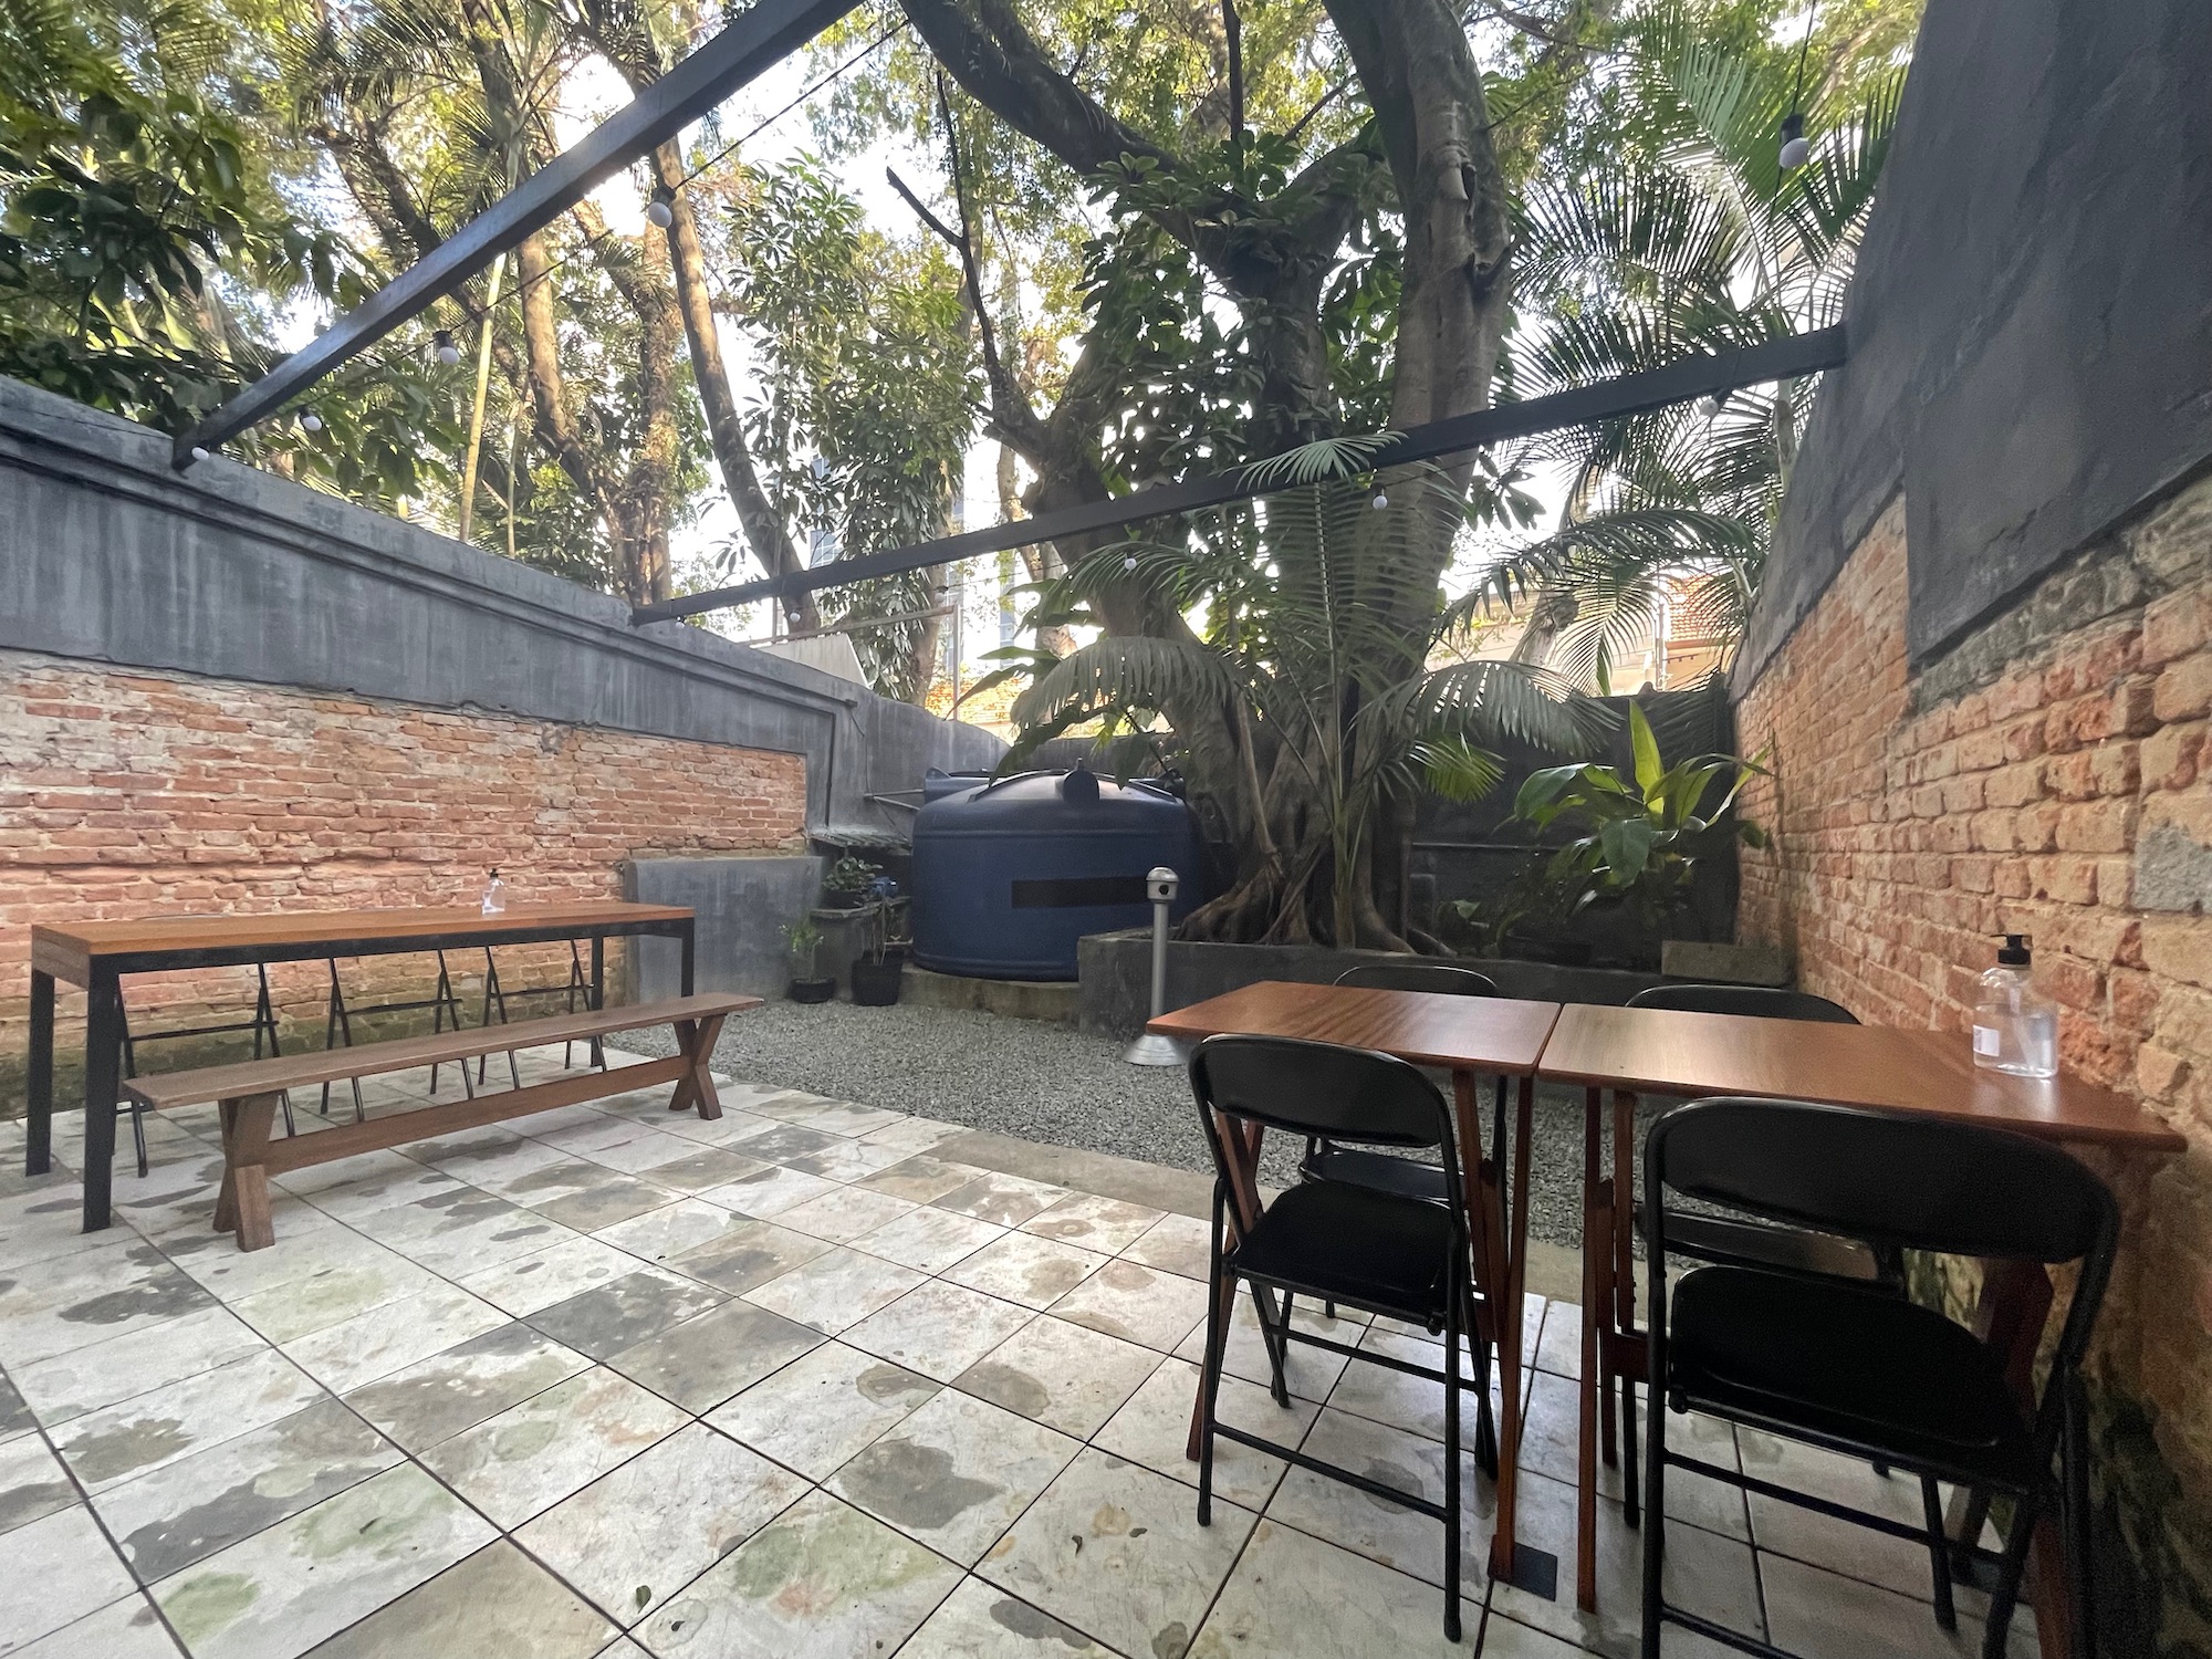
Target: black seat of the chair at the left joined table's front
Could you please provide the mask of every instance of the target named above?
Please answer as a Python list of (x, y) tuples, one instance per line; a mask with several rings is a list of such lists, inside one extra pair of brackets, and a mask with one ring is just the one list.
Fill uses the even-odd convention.
[(1440, 1325), (1451, 1212), (1343, 1181), (1294, 1186), (1230, 1254), (1237, 1272), (1298, 1294)]

